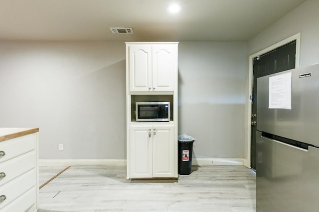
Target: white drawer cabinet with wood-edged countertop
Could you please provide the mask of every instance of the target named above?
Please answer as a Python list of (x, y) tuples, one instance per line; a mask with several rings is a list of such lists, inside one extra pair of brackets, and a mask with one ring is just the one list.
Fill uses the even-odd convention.
[(38, 209), (37, 132), (38, 129), (23, 128), (12, 133), (0, 128), (1, 212), (36, 212)]

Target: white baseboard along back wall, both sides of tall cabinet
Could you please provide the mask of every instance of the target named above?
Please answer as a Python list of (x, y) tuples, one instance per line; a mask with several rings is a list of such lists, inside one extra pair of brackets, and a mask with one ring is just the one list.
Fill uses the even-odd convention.
[[(244, 165), (244, 158), (192, 158), (192, 165)], [(126, 159), (40, 159), (40, 167), (126, 166)]]

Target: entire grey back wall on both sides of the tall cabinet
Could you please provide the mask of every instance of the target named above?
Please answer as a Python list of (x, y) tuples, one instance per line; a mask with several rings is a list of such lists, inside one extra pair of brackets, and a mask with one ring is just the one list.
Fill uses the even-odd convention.
[[(178, 51), (179, 134), (243, 157), (246, 44)], [(125, 67), (124, 42), (0, 41), (0, 127), (39, 127), (40, 159), (125, 159)]]

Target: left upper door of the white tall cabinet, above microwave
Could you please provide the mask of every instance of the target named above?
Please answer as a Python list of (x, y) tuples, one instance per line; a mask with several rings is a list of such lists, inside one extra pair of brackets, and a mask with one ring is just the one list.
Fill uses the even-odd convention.
[(131, 45), (129, 47), (130, 91), (152, 89), (152, 46)]

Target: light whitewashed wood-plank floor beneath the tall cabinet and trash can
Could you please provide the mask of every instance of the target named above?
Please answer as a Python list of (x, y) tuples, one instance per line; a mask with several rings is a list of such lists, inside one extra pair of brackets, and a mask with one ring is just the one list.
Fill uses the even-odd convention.
[[(40, 185), (65, 167), (40, 167)], [(40, 189), (38, 212), (255, 212), (256, 174), (195, 166), (177, 180), (126, 180), (126, 166), (71, 166)]]

